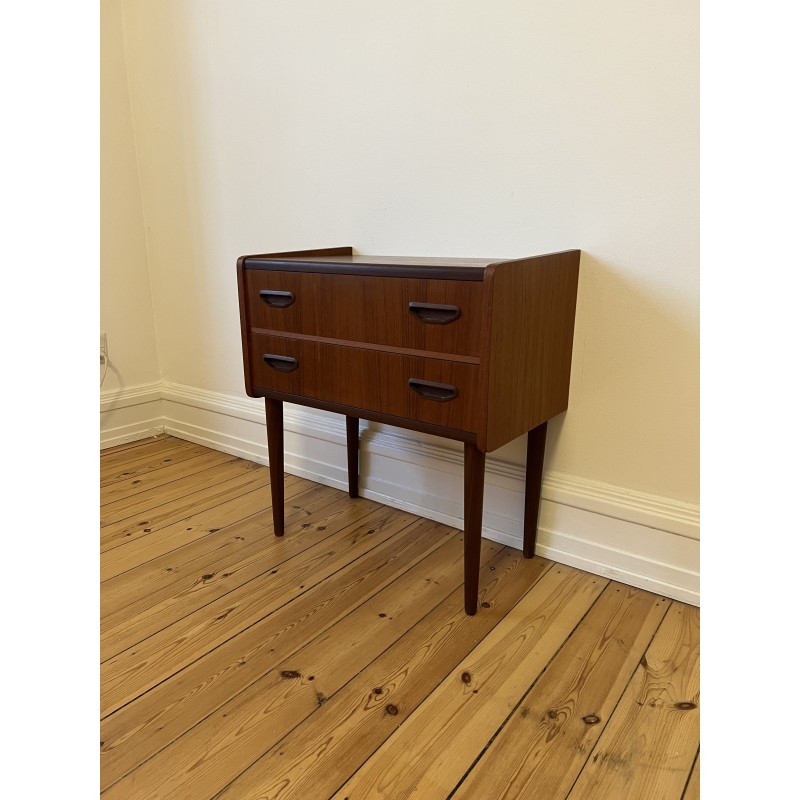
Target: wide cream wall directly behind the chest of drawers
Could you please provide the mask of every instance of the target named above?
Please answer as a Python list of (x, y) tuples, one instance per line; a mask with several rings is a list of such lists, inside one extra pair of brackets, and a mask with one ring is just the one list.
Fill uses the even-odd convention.
[[(698, 499), (695, 0), (124, 11), (167, 380), (243, 393), (242, 253), (578, 247), (548, 466)], [(522, 463), (523, 442), (499, 455)]]

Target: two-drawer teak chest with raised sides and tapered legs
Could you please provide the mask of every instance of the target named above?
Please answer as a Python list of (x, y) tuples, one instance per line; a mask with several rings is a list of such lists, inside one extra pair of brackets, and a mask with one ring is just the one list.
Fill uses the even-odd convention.
[(245, 386), (266, 399), (275, 534), (283, 535), (283, 402), (346, 417), (351, 497), (358, 420), (464, 442), (464, 607), (478, 604), (487, 452), (525, 433), (523, 552), (533, 556), (547, 420), (567, 408), (579, 250), (513, 261), (242, 256)]

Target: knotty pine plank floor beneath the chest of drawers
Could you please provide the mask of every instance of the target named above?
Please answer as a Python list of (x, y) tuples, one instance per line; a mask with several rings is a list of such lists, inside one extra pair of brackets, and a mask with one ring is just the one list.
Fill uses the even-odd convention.
[(696, 608), (170, 437), (101, 456), (108, 800), (699, 797)]

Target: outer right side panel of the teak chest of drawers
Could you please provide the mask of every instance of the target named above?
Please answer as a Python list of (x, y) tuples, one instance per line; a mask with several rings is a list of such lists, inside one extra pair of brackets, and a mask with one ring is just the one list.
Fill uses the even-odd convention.
[(566, 411), (580, 250), (495, 265), (487, 450)]

